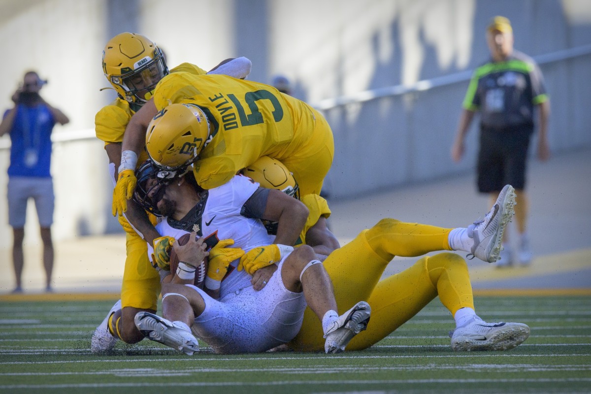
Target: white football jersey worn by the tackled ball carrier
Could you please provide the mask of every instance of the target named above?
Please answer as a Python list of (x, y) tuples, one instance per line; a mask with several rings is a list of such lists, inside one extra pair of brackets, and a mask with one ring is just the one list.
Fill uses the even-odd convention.
[[(242, 248), (245, 252), (258, 246), (270, 245), (271, 237), (261, 220), (242, 216), (246, 200), (255, 193), (259, 184), (251, 178), (236, 175), (228, 183), (205, 190), (201, 201), (181, 220), (168, 218), (158, 223), (156, 230), (160, 235), (179, 239), (196, 231), (205, 237), (208, 248), (213, 248), (222, 239), (233, 239), (230, 248)], [(229, 273), (220, 287), (220, 299), (251, 285), (251, 276), (246, 271), (238, 271), (239, 260), (230, 264)]]

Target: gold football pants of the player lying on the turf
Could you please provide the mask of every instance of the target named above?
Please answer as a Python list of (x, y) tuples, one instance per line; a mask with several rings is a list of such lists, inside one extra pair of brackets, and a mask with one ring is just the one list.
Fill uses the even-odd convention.
[[(367, 330), (355, 336), (347, 350), (366, 349), (382, 340), (437, 295), (452, 315), (460, 308), (474, 308), (466, 262), (454, 253), (425, 256), (410, 268), (379, 280), (394, 256), (451, 250), (447, 241), (450, 230), (382, 219), (330, 253), (324, 268), (335, 288), (339, 314), (359, 301), (367, 301), (372, 309)], [(301, 330), (288, 346), (296, 351), (324, 349), (322, 324), (310, 308), (306, 308)]]

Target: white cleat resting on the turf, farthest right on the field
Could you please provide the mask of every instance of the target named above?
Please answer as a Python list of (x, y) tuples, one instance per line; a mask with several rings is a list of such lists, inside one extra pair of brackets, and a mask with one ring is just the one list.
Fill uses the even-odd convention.
[(455, 351), (513, 349), (529, 336), (530, 327), (525, 324), (486, 323), (480, 318), (450, 331)]

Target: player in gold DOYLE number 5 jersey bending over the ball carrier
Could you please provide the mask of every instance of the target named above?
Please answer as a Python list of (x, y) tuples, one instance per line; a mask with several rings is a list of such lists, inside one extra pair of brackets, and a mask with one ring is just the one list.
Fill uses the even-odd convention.
[[(191, 147), (185, 155), (168, 149), (173, 138), (161, 138), (152, 148), (182, 167), (194, 161), (197, 183), (206, 189), (226, 183), (242, 168), (261, 156), (279, 159), (294, 173), (301, 194), (320, 194), (335, 151), (332, 130), (311, 106), (284, 95), (272, 86), (221, 75), (174, 73), (164, 77), (154, 96), (129, 121), (122, 145), (124, 158), (115, 188), (113, 212), (125, 212), (137, 180), (137, 155), (145, 146), (146, 130), (155, 117), (167, 117), (167, 106), (189, 104), (199, 108), (207, 121), (209, 139), (196, 159)], [(168, 125), (173, 122), (167, 122)], [(180, 129), (160, 130), (149, 135), (177, 135)], [(167, 156), (177, 155), (176, 162)]]

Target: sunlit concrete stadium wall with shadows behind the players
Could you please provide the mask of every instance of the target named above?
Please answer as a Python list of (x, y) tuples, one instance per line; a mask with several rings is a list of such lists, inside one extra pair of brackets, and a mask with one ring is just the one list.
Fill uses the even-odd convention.
[[(253, 61), (249, 79), (284, 74), (294, 96), (310, 103), (472, 69), (488, 57), (484, 28), (493, 15), (514, 24), (515, 47), (531, 56), (591, 43), (591, 5), (577, 0), (28, 0), (0, 4), (0, 107), (30, 68), (50, 83), (42, 94), (72, 122), (63, 132), (93, 128), (112, 100), (100, 69), (106, 40), (139, 31), (167, 53), (168, 63), (210, 69), (228, 57)], [(551, 148), (591, 145), (587, 96), (589, 56), (543, 66), (552, 97)], [(326, 110), (336, 157), (326, 187), (347, 198), (471, 171), (474, 129), (466, 159), (449, 148), (467, 82)], [(111, 182), (95, 139), (54, 145), (57, 239), (121, 231), (111, 216)], [(5, 196), (8, 137), (0, 139), (0, 191)], [(38, 242), (29, 210), (27, 239)], [(0, 248), (8, 248), (5, 197), (0, 198)]]

